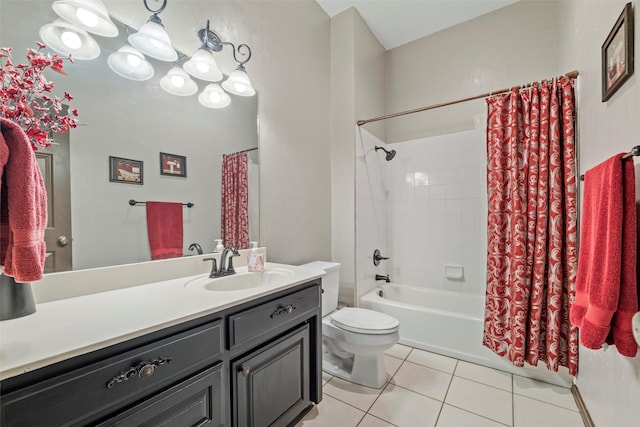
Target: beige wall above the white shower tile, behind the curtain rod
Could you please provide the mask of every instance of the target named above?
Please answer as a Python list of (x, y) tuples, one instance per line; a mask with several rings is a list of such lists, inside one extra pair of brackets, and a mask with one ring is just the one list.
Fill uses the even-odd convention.
[[(453, 101), (564, 73), (556, 1), (520, 1), (387, 52), (387, 113)], [(387, 142), (474, 128), (482, 100), (387, 122)]]

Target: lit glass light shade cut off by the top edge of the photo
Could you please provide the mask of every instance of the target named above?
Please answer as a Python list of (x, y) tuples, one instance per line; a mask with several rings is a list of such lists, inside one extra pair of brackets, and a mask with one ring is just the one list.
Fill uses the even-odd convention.
[(67, 22), (103, 37), (118, 35), (118, 27), (109, 18), (101, 0), (57, 0), (51, 8)]

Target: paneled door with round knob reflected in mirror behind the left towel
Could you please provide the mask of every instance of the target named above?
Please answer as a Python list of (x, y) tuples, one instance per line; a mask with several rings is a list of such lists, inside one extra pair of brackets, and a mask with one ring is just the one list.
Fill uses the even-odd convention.
[(47, 188), (48, 223), (44, 233), (47, 258), (44, 272), (72, 268), (71, 183), (69, 133), (54, 134), (54, 144), (36, 151), (36, 159)]

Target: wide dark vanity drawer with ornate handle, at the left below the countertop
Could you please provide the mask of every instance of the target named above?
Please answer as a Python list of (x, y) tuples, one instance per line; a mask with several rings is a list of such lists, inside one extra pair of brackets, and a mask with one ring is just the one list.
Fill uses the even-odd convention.
[(91, 423), (211, 366), (223, 338), (220, 319), (4, 395), (0, 424)]

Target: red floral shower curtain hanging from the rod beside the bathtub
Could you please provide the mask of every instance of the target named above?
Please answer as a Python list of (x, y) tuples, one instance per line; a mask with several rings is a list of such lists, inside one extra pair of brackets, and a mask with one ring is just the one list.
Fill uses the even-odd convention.
[(487, 99), (488, 247), (483, 344), (515, 366), (578, 367), (573, 81)]

